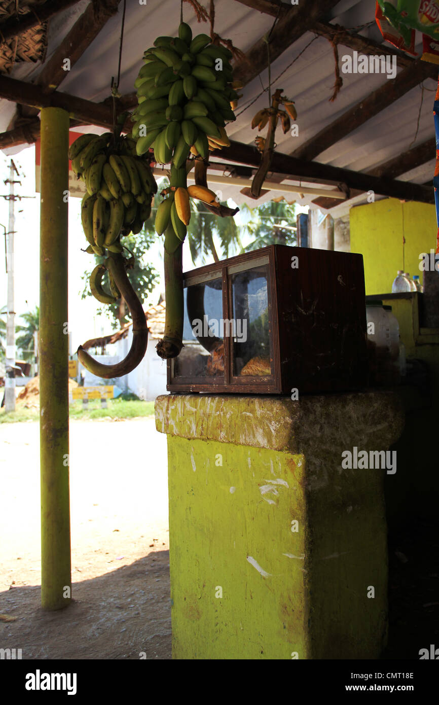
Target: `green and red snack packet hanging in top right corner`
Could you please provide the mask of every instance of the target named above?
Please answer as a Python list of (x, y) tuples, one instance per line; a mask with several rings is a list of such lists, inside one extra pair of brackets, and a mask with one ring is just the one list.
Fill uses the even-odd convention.
[(378, 4), (407, 45), (412, 30), (439, 39), (438, 0), (378, 0)]

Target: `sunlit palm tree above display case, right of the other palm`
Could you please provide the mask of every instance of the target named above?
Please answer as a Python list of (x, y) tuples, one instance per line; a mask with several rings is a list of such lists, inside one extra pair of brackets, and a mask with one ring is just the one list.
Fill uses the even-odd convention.
[(244, 252), (259, 250), (267, 245), (297, 245), (295, 205), (286, 201), (267, 201), (255, 208), (243, 207), (249, 212), (246, 230), (254, 238)]

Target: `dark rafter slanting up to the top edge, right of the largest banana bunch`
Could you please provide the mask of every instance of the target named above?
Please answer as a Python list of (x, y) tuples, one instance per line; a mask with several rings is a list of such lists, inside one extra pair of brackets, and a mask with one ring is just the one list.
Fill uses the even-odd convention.
[[(283, 17), (278, 20), (271, 35), (271, 61), (278, 59), (278, 56), (283, 54), (299, 37), (302, 37), (304, 32), (307, 32), (311, 25), (326, 16), (337, 4), (338, 0), (319, 0), (319, 2), (312, 4), (309, 2), (301, 2), (299, 5), (288, 8), (288, 10), (283, 13)], [(269, 30), (270, 27), (267, 29)], [(235, 63), (233, 66), (233, 78), (237, 81), (241, 81), (243, 85), (246, 85), (256, 78), (261, 71), (265, 71), (267, 66), (267, 45), (264, 37), (261, 37), (261, 39), (247, 51), (245, 59)]]

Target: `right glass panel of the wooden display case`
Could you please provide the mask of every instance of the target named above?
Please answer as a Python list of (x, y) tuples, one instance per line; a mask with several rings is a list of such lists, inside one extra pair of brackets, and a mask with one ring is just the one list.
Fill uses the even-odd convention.
[(268, 268), (258, 266), (230, 277), (232, 283), (233, 375), (269, 376)]

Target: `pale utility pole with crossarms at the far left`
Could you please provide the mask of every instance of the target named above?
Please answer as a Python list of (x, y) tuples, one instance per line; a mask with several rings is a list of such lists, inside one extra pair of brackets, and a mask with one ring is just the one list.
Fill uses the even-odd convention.
[(6, 254), (6, 265), (8, 274), (8, 317), (6, 319), (6, 379), (5, 379), (5, 411), (16, 410), (16, 312), (14, 311), (14, 253), (13, 253), (13, 236), (15, 227), (15, 194), (14, 186), (16, 183), (21, 183), (18, 180), (14, 181), (14, 172), (18, 173), (16, 165), (11, 159), (9, 165), (9, 178), (4, 183), (9, 184), (9, 232), (8, 232), (8, 248)]

